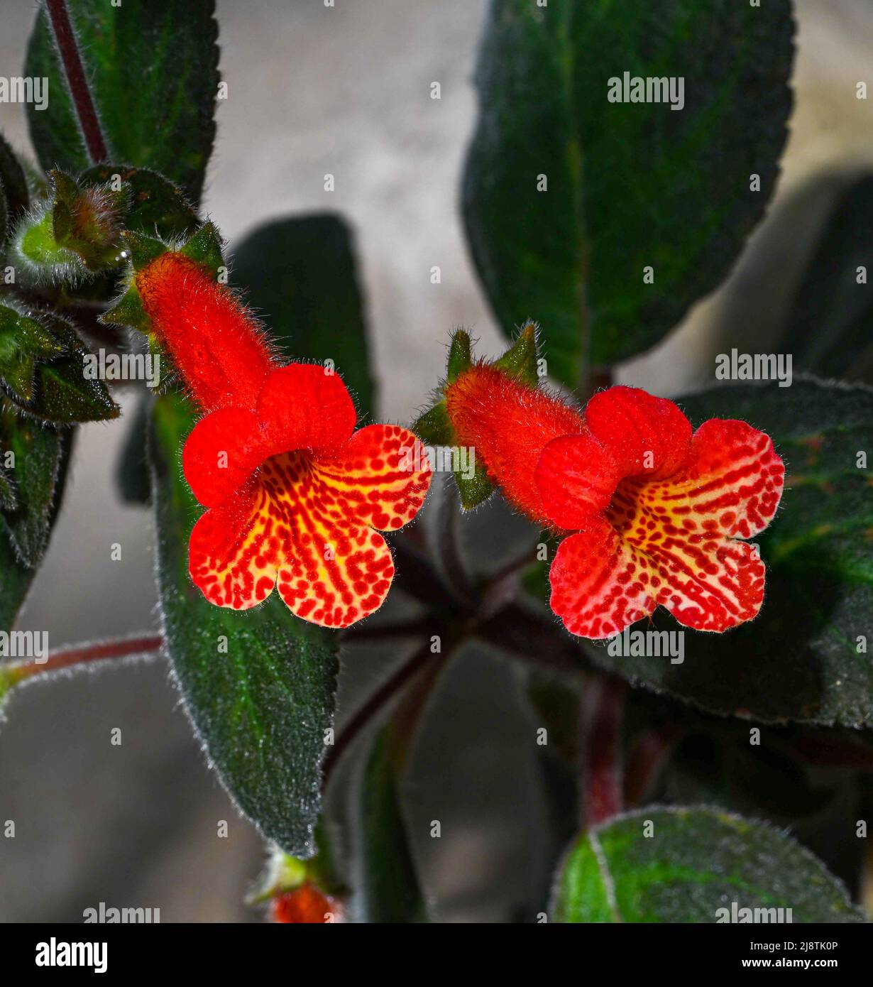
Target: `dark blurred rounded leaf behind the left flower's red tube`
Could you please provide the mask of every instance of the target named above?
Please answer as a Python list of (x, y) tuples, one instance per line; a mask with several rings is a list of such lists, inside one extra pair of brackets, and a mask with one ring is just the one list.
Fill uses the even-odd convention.
[(272, 330), (287, 360), (333, 360), (372, 414), (364, 301), (351, 231), (333, 213), (281, 219), (250, 234), (234, 255), (232, 279)]

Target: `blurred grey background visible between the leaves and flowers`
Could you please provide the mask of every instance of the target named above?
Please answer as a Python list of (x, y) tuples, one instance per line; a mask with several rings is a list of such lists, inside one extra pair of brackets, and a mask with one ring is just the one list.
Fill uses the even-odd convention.
[[(218, 108), (205, 208), (232, 243), (277, 216), (323, 209), (345, 215), (356, 235), (382, 411), (395, 420), (410, 420), (434, 386), (453, 326), (472, 327), (483, 353), (500, 346), (458, 211), (485, 6), (218, 4), (229, 99)], [(695, 306), (669, 340), (622, 367), (623, 381), (676, 394), (702, 379), (716, 328), (765, 335), (833, 197), (835, 182), (824, 176), (873, 162), (873, 96), (861, 102), (854, 92), (859, 80), (873, 87), (873, 6), (796, 6), (796, 108), (775, 204), (729, 282)], [(34, 5), (2, 0), (0, 16), (0, 75), (17, 75)], [(429, 98), (432, 81), (441, 83), (441, 101)], [(0, 129), (29, 155), (21, 107), (0, 105)], [(333, 193), (323, 189), (326, 172), (335, 175)], [(433, 265), (442, 268), (439, 285), (429, 281)], [(20, 621), (46, 629), (52, 646), (156, 627), (150, 515), (119, 505), (112, 482), (125, 427), (82, 429), (61, 516)], [(122, 545), (120, 562), (109, 560), (112, 542)], [(379, 664), (374, 655), (363, 674), (375, 676)], [(527, 879), (525, 825), (536, 825), (536, 807), (519, 802), (517, 776), (519, 765), (529, 767), (530, 746), (489, 748), (486, 721), (500, 719), (507, 728), (523, 722), (521, 711), (501, 700), (511, 696), (511, 671), (478, 656), (466, 669), (456, 665), (453, 676), (459, 674), (493, 683), (493, 706), (459, 707), (473, 726), (465, 762), (452, 766), (443, 789), (462, 791), (473, 810), (445, 826), (439, 866), (428, 866), (425, 878), (442, 919), (499, 918), (505, 913), (480, 889), (507, 870), (515, 870), (519, 888)], [(160, 907), (163, 921), (258, 918), (242, 899), (259, 870), (261, 842), (207, 770), (162, 661), (35, 685), (7, 712), (0, 823), (15, 820), (16, 836), (0, 838), (0, 920), (80, 921), (84, 908), (101, 901)], [(115, 726), (120, 747), (109, 744)], [(421, 748), (421, 758), (438, 763), (438, 729)], [(413, 821), (433, 817), (438, 793), (409, 797)], [(514, 816), (524, 824), (503, 825)], [(227, 839), (217, 836), (222, 819), (230, 823)]]

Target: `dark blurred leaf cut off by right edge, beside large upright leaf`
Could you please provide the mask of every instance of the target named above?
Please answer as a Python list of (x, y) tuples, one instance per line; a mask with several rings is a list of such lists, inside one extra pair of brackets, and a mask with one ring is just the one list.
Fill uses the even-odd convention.
[(778, 349), (792, 354), (795, 370), (873, 380), (871, 226), (873, 175), (866, 174), (837, 197), (785, 320)]

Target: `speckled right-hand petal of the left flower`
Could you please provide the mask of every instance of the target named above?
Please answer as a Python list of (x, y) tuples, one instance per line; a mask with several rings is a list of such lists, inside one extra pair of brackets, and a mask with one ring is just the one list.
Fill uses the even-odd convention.
[(367, 425), (314, 460), (327, 517), (395, 531), (418, 513), (430, 487), (424, 446), (400, 425)]

